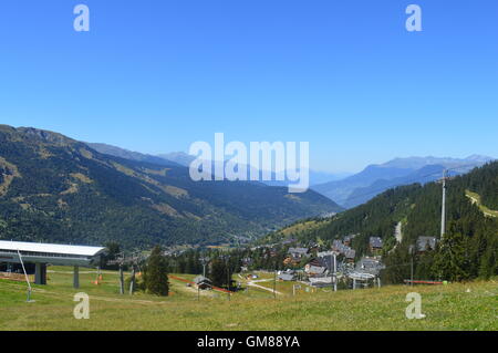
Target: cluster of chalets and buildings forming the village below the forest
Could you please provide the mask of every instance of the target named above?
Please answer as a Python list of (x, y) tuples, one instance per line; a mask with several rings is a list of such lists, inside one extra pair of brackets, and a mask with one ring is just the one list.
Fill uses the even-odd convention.
[[(273, 258), (277, 261), (282, 258), (281, 255), (279, 256), (279, 251), (282, 251), (282, 248), (287, 250), (284, 250), (281, 263), (276, 263), (273, 269), (268, 268), (268, 266), (258, 267), (250, 256), (242, 258), (240, 270), (235, 271), (238, 281), (234, 280), (234, 282), (237, 282), (237, 284), (230, 284), (230, 288), (241, 290), (243, 283), (246, 283), (247, 287), (259, 287), (276, 292), (274, 285), (262, 287), (259, 284), (263, 284), (263, 282), (286, 282), (292, 285), (293, 295), (299, 290), (332, 289), (338, 291), (380, 288), (382, 285), (381, 271), (385, 269), (382, 261), (384, 242), (380, 237), (370, 237), (367, 255), (357, 257), (356, 250), (352, 248), (352, 241), (356, 236), (349, 235), (335, 239), (331, 247), (318, 243), (308, 247), (295, 246), (298, 241), (292, 238), (280, 243), (252, 247), (251, 252), (263, 251), (264, 258)], [(401, 241), (401, 238), (397, 238), (397, 240)], [(418, 237), (415, 251), (417, 255), (422, 255), (424, 251), (434, 250), (436, 242), (435, 237)], [(272, 262), (270, 261), (270, 263)], [(264, 273), (264, 276), (261, 273)], [(406, 281), (413, 281), (413, 278)], [(205, 272), (203, 276), (197, 276), (193, 282), (201, 290), (212, 289), (212, 283)]]

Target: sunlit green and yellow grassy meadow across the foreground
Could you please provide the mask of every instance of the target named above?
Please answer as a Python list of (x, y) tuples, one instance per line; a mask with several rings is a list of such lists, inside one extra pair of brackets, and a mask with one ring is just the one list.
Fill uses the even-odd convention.
[[(498, 282), (476, 281), (435, 287), (391, 285), (381, 289), (328, 289), (292, 295), (291, 283), (277, 283), (281, 294), (250, 287), (234, 293), (201, 291), (170, 280), (170, 295), (118, 294), (117, 272), (81, 270), (79, 290), (72, 288), (72, 269), (49, 268), (48, 285), (33, 285), (28, 303), (27, 284), (0, 280), (0, 330), (497, 330)], [(177, 274), (191, 279), (194, 276)], [(234, 276), (245, 285), (245, 279)], [(257, 282), (272, 289), (272, 278)], [(408, 292), (422, 295), (421, 320), (408, 320)], [(73, 295), (90, 295), (90, 319), (76, 320)]]

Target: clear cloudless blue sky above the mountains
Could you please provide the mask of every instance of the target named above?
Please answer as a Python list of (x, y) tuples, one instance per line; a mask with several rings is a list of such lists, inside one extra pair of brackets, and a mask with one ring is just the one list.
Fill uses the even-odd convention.
[(498, 157), (498, 1), (2, 0), (0, 123), (152, 154), (309, 141), (335, 172)]

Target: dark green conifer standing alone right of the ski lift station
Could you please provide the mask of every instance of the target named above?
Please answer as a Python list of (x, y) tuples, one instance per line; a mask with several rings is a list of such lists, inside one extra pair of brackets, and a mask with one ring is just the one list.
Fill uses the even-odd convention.
[(167, 262), (159, 246), (156, 246), (152, 250), (152, 253), (147, 259), (144, 279), (147, 292), (156, 295), (168, 295), (169, 283)]

